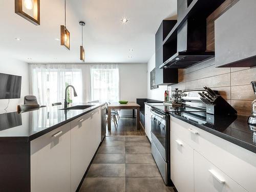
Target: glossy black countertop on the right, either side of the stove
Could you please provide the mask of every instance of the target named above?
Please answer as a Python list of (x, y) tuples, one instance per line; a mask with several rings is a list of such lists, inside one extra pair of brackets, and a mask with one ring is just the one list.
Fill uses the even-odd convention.
[[(162, 111), (159, 106), (147, 104)], [(168, 112), (167, 114), (256, 153), (256, 132), (250, 129), (252, 127), (247, 123), (248, 117), (218, 116), (202, 112)], [(254, 129), (256, 131), (256, 127)]]

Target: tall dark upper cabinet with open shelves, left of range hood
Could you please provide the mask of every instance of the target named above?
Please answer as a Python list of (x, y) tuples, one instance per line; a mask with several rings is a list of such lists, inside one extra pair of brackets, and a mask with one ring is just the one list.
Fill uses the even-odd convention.
[[(163, 45), (163, 40), (173, 29), (177, 20), (163, 20), (155, 36), (155, 53), (156, 53), (156, 84), (172, 84), (178, 83), (178, 70), (177, 69), (159, 69), (159, 66), (163, 64), (165, 59), (168, 59), (169, 54), (173, 54), (172, 50), (177, 51), (177, 41), (176, 46)], [(172, 48), (174, 47), (174, 48)]]

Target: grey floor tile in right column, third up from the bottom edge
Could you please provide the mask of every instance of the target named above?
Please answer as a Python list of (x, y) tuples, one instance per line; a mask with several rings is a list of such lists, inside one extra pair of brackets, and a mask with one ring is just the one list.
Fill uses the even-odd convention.
[(125, 163), (155, 163), (151, 154), (125, 154)]

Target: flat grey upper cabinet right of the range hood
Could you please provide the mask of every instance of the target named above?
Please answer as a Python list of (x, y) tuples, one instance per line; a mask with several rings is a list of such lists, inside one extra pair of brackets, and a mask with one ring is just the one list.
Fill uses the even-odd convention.
[(256, 66), (255, 10), (255, 0), (240, 0), (215, 21), (217, 67)]

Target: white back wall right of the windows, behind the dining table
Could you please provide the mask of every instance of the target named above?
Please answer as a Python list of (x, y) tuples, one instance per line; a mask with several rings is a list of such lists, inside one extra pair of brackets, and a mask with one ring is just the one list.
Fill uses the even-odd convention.
[[(134, 101), (147, 97), (147, 63), (120, 63), (120, 100)], [(132, 116), (131, 110), (122, 110), (121, 116)]]

